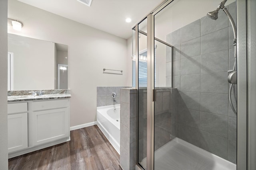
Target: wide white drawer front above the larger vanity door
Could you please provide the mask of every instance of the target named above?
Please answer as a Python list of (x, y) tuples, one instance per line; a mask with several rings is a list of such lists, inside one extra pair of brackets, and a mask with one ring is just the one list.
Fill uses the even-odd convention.
[(68, 99), (50, 100), (50, 101), (43, 101), (43, 102), (32, 102), (30, 104), (30, 110), (32, 110), (32, 111), (57, 109), (57, 108), (62, 108), (62, 107), (68, 107)]

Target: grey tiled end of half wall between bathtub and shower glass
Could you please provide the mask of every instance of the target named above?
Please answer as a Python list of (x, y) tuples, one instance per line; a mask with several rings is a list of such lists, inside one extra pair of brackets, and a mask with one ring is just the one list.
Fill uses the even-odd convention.
[(137, 89), (121, 89), (120, 110), (120, 166), (135, 170), (137, 162)]

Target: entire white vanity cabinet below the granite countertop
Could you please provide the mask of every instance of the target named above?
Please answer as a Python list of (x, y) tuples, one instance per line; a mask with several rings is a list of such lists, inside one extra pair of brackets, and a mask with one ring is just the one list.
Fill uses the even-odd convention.
[(8, 102), (8, 158), (70, 141), (70, 100)]

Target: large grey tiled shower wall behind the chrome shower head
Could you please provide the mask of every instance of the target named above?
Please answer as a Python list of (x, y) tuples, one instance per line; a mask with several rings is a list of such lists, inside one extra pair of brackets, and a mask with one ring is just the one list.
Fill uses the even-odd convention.
[[(226, 8), (236, 19), (236, 2)], [(227, 81), (234, 64), (233, 39), (222, 11), (216, 21), (204, 16), (168, 34), (174, 52), (173, 61), (166, 56), (166, 68), (173, 65), (166, 85), (173, 80), (180, 94), (177, 137), (236, 163), (237, 120), (228, 103)]]

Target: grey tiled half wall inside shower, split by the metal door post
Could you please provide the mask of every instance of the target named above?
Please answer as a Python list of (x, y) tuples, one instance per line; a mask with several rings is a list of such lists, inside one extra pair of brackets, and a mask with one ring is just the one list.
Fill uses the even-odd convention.
[[(154, 150), (158, 150), (177, 135), (177, 96), (176, 88), (156, 88), (154, 104)], [(139, 161), (146, 158), (147, 145), (147, 89), (139, 90)]]

